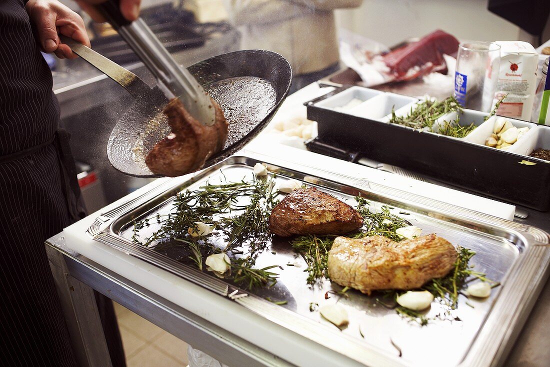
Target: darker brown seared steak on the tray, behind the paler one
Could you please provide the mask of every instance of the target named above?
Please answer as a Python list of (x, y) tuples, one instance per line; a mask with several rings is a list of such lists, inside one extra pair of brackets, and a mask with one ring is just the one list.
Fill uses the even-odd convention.
[(353, 207), (316, 188), (295, 189), (270, 215), (270, 231), (293, 234), (343, 234), (361, 228), (363, 217)]

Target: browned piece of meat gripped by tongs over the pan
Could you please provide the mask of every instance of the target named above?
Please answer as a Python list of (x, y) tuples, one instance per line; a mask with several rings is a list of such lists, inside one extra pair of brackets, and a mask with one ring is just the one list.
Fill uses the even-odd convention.
[(163, 112), (168, 116), (172, 134), (159, 141), (145, 158), (151, 172), (169, 177), (195, 172), (223, 148), (228, 125), (222, 109), (214, 101), (212, 105), (216, 120), (207, 126), (191, 116), (179, 98), (168, 103)]

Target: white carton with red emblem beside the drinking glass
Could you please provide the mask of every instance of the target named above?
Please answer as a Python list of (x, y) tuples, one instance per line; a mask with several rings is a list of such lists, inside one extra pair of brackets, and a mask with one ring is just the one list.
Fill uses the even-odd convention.
[(538, 54), (522, 41), (496, 41), (500, 45), (500, 70), (493, 105), (506, 96), (497, 114), (529, 121), (535, 101)]

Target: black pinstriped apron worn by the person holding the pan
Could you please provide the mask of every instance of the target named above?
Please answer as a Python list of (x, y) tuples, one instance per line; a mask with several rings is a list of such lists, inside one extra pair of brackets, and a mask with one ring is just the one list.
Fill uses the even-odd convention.
[[(76, 177), (25, 2), (0, 0), (0, 364), (74, 366), (44, 241), (78, 218)], [(124, 365), (112, 304), (99, 303)]]

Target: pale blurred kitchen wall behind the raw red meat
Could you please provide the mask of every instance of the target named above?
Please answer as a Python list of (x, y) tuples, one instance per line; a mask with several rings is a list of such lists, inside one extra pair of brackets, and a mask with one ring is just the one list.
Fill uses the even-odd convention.
[(387, 46), (436, 29), (465, 40), (520, 39), (517, 26), (487, 10), (487, 0), (364, 0), (360, 8), (337, 10), (337, 22)]

